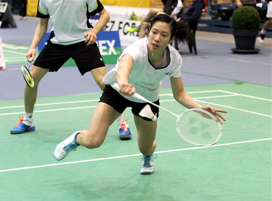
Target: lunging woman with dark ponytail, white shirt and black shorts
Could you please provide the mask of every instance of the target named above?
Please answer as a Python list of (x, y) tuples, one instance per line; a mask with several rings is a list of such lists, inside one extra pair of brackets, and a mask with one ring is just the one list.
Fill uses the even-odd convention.
[[(128, 46), (118, 58), (116, 67), (109, 71), (103, 81), (106, 87), (94, 111), (89, 130), (76, 131), (54, 150), (54, 157), (62, 160), (68, 153), (81, 145), (88, 149), (102, 145), (109, 126), (127, 107), (131, 107), (138, 133), (138, 147), (142, 153), (141, 174), (154, 172), (153, 155), (157, 143), (155, 141), (157, 121), (141, 117), (139, 112), (147, 104), (135, 99), (137, 93), (151, 102), (159, 104), (161, 80), (170, 77), (174, 98), (186, 108), (201, 108), (209, 111), (217, 118), (226, 120), (218, 112), (227, 111), (202, 106), (194, 101), (183, 88), (181, 79), (182, 59), (170, 44), (176, 38), (186, 42), (191, 38), (191, 31), (186, 22), (176, 22), (167, 14), (160, 14), (151, 21), (148, 38), (142, 38)], [(120, 90), (111, 85), (118, 83)], [(153, 113), (158, 117), (159, 109), (151, 105)], [(219, 120), (218, 118), (218, 120)], [(219, 120), (219, 123), (222, 122)]]

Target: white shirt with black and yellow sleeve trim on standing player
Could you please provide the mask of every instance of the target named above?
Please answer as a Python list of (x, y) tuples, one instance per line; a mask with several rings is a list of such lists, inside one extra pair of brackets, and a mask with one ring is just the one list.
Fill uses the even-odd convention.
[(39, 0), (37, 17), (50, 17), (54, 34), (51, 42), (71, 45), (86, 40), (84, 33), (92, 28), (87, 16), (103, 8), (99, 0)]

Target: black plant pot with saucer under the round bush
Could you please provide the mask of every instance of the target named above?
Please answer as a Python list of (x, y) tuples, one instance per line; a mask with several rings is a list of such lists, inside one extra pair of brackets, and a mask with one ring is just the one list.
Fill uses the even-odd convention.
[(260, 51), (260, 49), (254, 49), (258, 30), (232, 30), (232, 34), (236, 45), (236, 49), (232, 49), (232, 52), (252, 54)]

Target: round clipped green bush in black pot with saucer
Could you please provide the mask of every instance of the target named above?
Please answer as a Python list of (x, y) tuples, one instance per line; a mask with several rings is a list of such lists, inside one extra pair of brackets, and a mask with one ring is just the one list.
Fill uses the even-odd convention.
[(234, 53), (258, 53), (254, 49), (261, 18), (258, 11), (252, 6), (242, 6), (232, 15), (232, 34), (234, 35), (236, 49)]

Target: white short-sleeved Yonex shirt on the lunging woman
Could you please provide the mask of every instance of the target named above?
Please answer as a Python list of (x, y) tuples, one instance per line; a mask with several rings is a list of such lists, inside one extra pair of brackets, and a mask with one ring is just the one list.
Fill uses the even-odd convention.
[[(129, 74), (128, 83), (136, 88), (136, 92), (149, 101), (155, 102), (159, 99), (159, 90), (161, 87), (161, 80), (165, 76), (180, 77), (182, 59), (180, 54), (171, 45), (166, 47), (164, 51), (164, 63), (162, 68), (155, 68), (147, 55), (148, 38), (142, 38), (128, 46), (117, 60), (115, 68), (109, 71), (103, 82), (113, 85), (116, 82), (116, 72), (118, 70), (119, 62), (123, 55), (131, 55), (134, 59), (133, 68)], [(169, 62), (166, 62), (166, 51), (169, 53)], [(120, 93), (121, 94), (121, 93)], [(124, 96), (123, 94), (121, 94)], [(133, 98), (132, 96), (124, 96), (126, 99), (134, 102), (144, 102)]]

